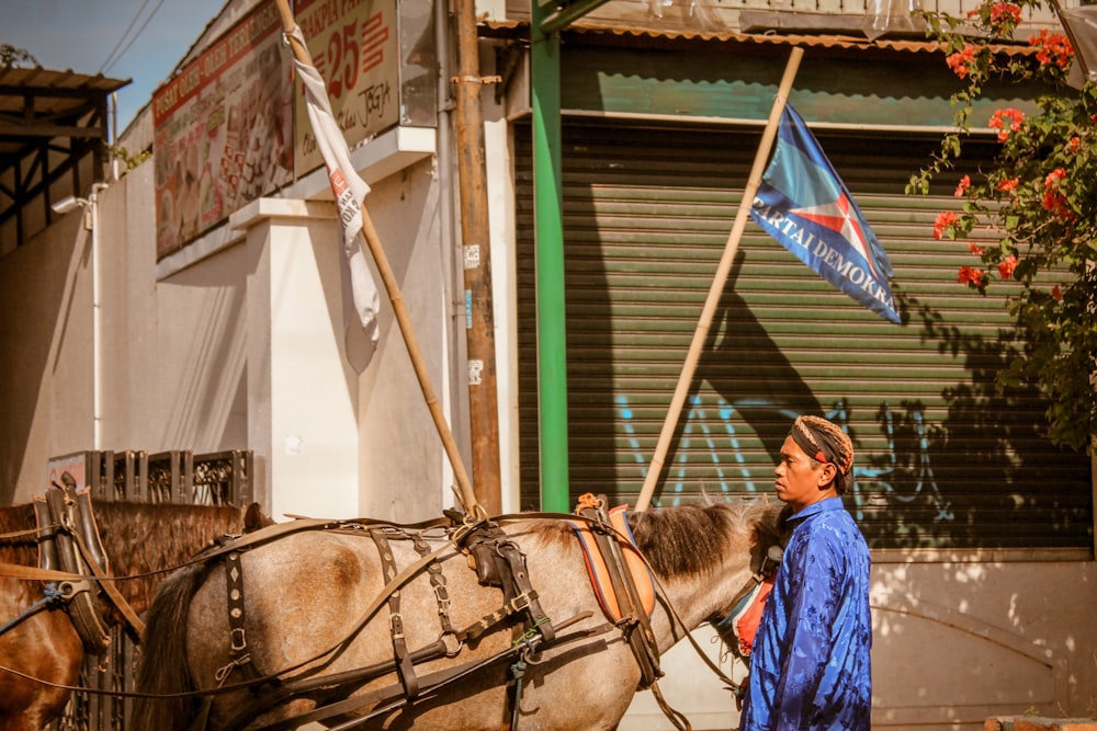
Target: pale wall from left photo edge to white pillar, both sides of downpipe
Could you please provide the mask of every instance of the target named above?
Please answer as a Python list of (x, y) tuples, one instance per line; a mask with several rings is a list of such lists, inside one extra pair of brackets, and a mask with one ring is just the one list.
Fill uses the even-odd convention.
[[(98, 195), (94, 233), (78, 210), (0, 261), (0, 439), (4, 502), (43, 492), (46, 461), (88, 449), (247, 448), (242, 248), (157, 282), (151, 165)], [(101, 430), (92, 243), (99, 247)]]

